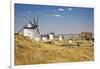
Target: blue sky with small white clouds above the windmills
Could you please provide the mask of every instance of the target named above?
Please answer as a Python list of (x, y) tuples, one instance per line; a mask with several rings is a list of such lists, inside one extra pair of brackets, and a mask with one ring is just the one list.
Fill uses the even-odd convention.
[(70, 6), (15, 4), (15, 32), (39, 17), (41, 33), (75, 34), (94, 32), (94, 9)]

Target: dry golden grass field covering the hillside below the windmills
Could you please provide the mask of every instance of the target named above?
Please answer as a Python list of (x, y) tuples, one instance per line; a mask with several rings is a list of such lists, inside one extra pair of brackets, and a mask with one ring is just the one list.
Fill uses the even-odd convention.
[(94, 46), (67, 45), (66, 41), (36, 42), (23, 35), (15, 34), (15, 65), (94, 60)]

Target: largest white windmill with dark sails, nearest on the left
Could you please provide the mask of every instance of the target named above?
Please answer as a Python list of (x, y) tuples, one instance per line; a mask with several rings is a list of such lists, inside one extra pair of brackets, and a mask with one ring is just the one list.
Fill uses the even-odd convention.
[(33, 17), (33, 21), (29, 21), (29, 23), (21, 28), (18, 33), (24, 30), (24, 36), (29, 36), (30, 38), (40, 37), (40, 31), (38, 27), (38, 17), (37, 19)]

